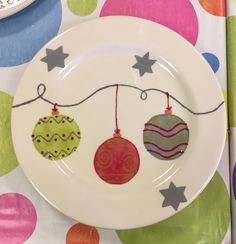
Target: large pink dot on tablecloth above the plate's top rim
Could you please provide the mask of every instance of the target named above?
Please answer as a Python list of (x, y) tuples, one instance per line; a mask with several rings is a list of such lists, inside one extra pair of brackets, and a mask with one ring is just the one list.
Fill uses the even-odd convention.
[(189, 0), (107, 0), (100, 16), (127, 15), (165, 25), (193, 45), (198, 37), (198, 18)]

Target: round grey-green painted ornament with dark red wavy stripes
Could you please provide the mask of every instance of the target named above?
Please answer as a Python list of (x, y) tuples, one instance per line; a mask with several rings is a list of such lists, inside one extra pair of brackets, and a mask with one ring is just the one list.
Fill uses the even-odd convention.
[(146, 150), (155, 158), (176, 159), (185, 152), (188, 142), (188, 126), (176, 115), (156, 115), (145, 124), (143, 143)]

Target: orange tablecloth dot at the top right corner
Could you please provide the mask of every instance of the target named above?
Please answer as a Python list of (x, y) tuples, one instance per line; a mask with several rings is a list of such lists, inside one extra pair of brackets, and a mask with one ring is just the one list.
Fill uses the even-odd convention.
[(225, 0), (199, 0), (202, 7), (210, 14), (216, 16), (226, 15)]

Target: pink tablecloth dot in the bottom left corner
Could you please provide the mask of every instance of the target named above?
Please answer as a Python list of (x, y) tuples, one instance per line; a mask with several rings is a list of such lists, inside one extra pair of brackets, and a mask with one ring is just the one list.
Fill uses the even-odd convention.
[(22, 244), (33, 233), (37, 214), (31, 201), (18, 193), (0, 195), (0, 244)]

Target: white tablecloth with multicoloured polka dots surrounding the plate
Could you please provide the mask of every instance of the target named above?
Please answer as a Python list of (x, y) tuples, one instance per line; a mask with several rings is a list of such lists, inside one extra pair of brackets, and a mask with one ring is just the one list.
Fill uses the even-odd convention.
[[(17, 84), (37, 51), (74, 24), (109, 15), (152, 20), (194, 45), (218, 77), (226, 101), (228, 94), (232, 135), (230, 141), (226, 140), (217, 172), (192, 204), (159, 224), (123, 231), (86, 226), (52, 208), (18, 166), (10, 131), (10, 111)], [(236, 199), (235, 15), (235, 0), (228, 0), (228, 5), (226, 0), (36, 0), (18, 14), (0, 20), (0, 244), (232, 243), (229, 144), (232, 198)]]

